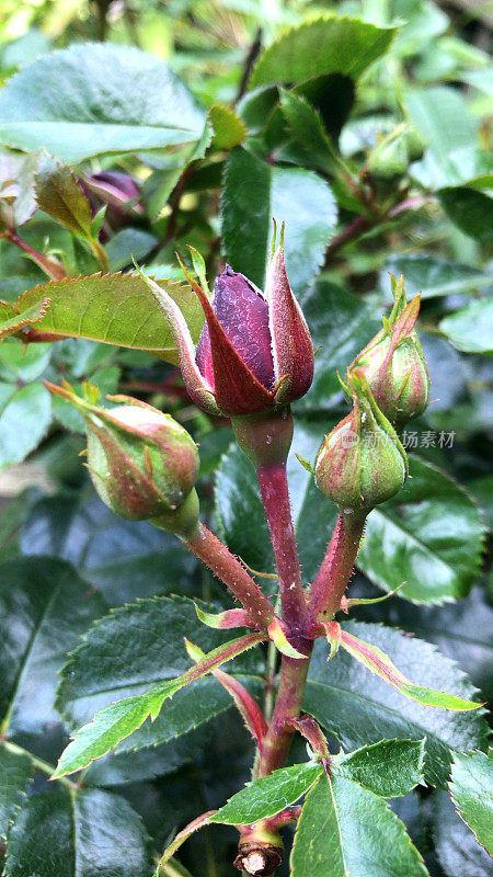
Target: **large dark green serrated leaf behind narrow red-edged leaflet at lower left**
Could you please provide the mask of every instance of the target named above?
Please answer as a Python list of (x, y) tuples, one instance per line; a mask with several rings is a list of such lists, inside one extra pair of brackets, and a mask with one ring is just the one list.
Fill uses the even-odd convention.
[[(142, 600), (116, 610), (84, 637), (64, 670), (57, 706), (78, 728), (122, 698), (137, 699), (190, 669), (183, 636), (208, 652), (227, 640), (205, 627), (185, 597)], [(186, 733), (231, 706), (215, 679), (177, 692), (153, 724), (147, 721), (119, 751), (152, 745)]]

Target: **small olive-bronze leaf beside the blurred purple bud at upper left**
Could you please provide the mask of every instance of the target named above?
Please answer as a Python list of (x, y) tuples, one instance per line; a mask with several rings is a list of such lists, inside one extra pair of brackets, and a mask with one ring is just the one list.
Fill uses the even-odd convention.
[(70, 168), (50, 156), (44, 156), (39, 161), (36, 172), (36, 201), (42, 210), (74, 235), (92, 237), (89, 198)]

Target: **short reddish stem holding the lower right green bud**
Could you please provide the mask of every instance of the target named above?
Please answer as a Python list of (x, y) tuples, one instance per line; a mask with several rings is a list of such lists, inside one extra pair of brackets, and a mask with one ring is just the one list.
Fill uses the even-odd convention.
[(358, 553), (365, 520), (352, 520), (343, 514), (337, 517), (322, 566), (310, 589), (307, 630), (311, 635), (317, 631), (319, 615), (329, 620), (341, 607)]

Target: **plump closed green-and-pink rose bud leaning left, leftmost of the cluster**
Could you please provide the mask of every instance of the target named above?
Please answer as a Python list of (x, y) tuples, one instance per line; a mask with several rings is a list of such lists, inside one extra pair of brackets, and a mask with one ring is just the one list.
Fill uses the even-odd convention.
[(192, 527), (198, 519), (194, 490), (198, 472), (197, 446), (170, 414), (127, 396), (123, 402), (100, 408), (99, 390), (84, 385), (85, 398), (64, 381), (47, 384), (80, 411), (88, 432), (88, 468), (103, 502), (129, 521), (156, 523), (173, 533)]

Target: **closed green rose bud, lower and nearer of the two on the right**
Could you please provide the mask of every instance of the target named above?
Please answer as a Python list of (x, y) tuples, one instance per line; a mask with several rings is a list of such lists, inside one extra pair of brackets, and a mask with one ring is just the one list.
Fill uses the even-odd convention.
[(348, 375), (353, 411), (317, 455), (316, 481), (343, 514), (368, 512), (393, 497), (408, 476), (405, 451), (375, 402), (363, 372)]

